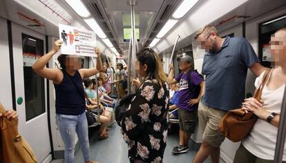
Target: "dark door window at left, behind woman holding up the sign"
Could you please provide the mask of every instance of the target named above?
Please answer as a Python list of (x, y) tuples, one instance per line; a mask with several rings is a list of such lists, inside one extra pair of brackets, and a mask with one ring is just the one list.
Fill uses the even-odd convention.
[(32, 70), (35, 61), (44, 55), (44, 41), (22, 34), (23, 77), (26, 121), (45, 113), (44, 78)]

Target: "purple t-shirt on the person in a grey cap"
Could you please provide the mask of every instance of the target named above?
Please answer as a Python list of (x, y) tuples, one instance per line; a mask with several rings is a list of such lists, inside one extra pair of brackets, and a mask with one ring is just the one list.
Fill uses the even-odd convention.
[[(191, 71), (188, 73), (191, 73), (191, 81), (189, 82), (193, 82), (193, 84), (195, 84), (196, 86), (200, 85), (200, 83), (204, 81), (204, 79), (202, 79), (202, 77), (200, 77), (200, 75), (196, 73), (196, 71)], [(193, 106), (188, 104), (189, 99), (196, 98), (195, 96), (197, 93), (191, 93), (189, 91), (187, 73), (180, 73), (177, 77), (175, 77), (175, 80), (180, 83), (178, 107), (182, 108), (182, 110), (184, 111), (193, 111), (194, 109), (197, 109), (198, 104), (195, 104)]]

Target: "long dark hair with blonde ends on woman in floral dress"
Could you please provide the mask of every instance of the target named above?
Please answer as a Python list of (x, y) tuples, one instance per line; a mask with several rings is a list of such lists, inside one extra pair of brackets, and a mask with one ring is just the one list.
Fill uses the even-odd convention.
[(141, 65), (147, 65), (147, 77), (156, 79), (160, 86), (163, 86), (167, 77), (163, 70), (162, 61), (157, 53), (151, 48), (143, 48), (137, 53), (137, 60)]

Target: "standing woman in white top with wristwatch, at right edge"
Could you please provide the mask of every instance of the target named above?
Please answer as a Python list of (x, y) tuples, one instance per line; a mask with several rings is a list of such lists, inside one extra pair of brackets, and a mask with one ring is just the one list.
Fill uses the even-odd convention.
[[(242, 103), (243, 109), (257, 115), (258, 120), (236, 151), (235, 163), (274, 162), (276, 137), (286, 82), (286, 28), (278, 30), (271, 36), (270, 48), (271, 60), (274, 61), (275, 68), (270, 71), (270, 78), (263, 88), (261, 101), (258, 102), (251, 97)], [(256, 88), (261, 84), (263, 75), (264, 73), (256, 79)], [(286, 161), (285, 149), (283, 161)]]

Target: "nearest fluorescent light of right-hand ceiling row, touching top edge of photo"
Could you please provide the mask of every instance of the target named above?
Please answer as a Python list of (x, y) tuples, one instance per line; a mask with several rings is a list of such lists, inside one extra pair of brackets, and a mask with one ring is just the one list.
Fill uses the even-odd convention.
[(175, 10), (173, 13), (173, 18), (180, 19), (181, 17), (184, 17), (184, 15), (195, 6), (195, 4), (198, 2), (198, 0), (184, 0), (180, 6)]

